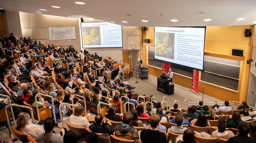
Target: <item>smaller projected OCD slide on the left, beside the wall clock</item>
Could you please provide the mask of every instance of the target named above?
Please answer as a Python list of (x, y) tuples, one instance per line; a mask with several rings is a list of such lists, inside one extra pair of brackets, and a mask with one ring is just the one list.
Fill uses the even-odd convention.
[(108, 22), (81, 23), (83, 48), (123, 47), (122, 26)]

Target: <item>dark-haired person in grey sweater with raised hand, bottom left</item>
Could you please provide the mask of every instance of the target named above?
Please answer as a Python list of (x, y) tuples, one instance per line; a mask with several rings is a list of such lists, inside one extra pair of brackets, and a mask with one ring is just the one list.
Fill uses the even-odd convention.
[(59, 130), (61, 134), (53, 133), (53, 128), (55, 127), (55, 121), (53, 118), (46, 118), (44, 121), (44, 133), (38, 134), (36, 141), (37, 142), (48, 142), (48, 143), (62, 143), (63, 136), (65, 135), (65, 130), (62, 128)]

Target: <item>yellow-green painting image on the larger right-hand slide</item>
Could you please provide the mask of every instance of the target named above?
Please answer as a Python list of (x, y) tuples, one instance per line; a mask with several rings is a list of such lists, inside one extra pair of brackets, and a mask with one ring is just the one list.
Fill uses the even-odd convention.
[(174, 33), (155, 32), (156, 56), (174, 59)]

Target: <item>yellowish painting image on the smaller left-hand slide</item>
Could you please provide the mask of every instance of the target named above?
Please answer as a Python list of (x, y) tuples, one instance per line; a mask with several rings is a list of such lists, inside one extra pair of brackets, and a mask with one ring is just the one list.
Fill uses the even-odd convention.
[(101, 45), (100, 26), (83, 27), (84, 45)]

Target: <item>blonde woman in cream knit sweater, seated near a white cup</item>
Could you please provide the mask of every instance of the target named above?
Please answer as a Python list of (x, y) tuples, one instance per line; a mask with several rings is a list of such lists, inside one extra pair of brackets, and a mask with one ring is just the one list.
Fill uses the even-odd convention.
[(74, 113), (69, 117), (69, 122), (75, 126), (88, 128), (90, 126), (90, 123), (88, 122), (86, 117), (83, 116), (84, 113), (85, 110), (83, 106), (78, 105), (74, 108)]

